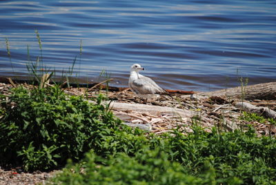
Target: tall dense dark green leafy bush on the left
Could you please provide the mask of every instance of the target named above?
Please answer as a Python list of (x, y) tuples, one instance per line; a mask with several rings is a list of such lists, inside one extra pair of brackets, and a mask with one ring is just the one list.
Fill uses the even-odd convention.
[(101, 152), (101, 140), (115, 134), (121, 121), (103, 106), (59, 88), (13, 89), (1, 96), (0, 161), (22, 163), (27, 171), (47, 170), (77, 161), (91, 148)]

